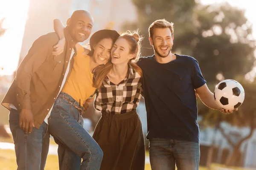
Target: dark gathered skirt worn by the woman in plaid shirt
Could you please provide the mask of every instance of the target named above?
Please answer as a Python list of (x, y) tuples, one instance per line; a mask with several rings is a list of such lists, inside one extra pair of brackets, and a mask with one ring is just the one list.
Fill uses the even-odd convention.
[(144, 170), (145, 141), (137, 112), (102, 113), (93, 139), (103, 150), (100, 170)]

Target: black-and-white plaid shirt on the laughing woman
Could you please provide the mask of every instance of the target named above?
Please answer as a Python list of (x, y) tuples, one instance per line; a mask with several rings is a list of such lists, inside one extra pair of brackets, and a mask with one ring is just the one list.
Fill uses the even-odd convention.
[(137, 108), (142, 93), (142, 77), (131, 65), (129, 65), (129, 72), (128, 77), (118, 85), (113, 84), (108, 77), (103, 80), (94, 101), (98, 111), (122, 114)]

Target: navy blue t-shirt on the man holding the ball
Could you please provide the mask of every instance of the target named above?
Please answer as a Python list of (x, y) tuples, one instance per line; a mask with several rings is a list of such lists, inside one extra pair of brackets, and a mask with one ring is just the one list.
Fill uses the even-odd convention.
[(143, 70), (143, 94), (147, 111), (149, 138), (199, 142), (198, 109), (194, 89), (206, 83), (198, 61), (176, 55), (161, 64), (141, 57), (137, 64)]

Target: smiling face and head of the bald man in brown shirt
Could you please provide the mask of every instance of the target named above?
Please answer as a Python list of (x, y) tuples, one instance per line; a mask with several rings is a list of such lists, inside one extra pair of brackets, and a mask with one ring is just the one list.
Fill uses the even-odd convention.
[(90, 36), (91, 30), (93, 28), (93, 18), (87, 12), (75, 12), (67, 20), (67, 27), (70, 36), (75, 42), (83, 42)]

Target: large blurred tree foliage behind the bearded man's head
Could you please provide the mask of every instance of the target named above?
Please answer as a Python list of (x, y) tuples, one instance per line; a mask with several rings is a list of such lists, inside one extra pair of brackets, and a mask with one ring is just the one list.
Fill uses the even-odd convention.
[(207, 82), (218, 82), (218, 73), (234, 79), (252, 69), (256, 42), (244, 11), (228, 3), (203, 6), (193, 0), (133, 0), (133, 3), (138, 21), (125, 23), (122, 30), (139, 28), (145, 37), (143, 56), (154, 54), (148, 41), (148, 27), (165, 18), (175, 24), (172, 51), (195, 57)]

